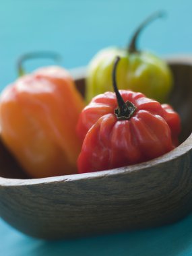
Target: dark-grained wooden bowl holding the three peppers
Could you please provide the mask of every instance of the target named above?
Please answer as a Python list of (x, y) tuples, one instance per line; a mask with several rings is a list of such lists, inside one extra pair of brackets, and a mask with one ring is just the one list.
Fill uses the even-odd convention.
[[(159, 226), (191, 212), (192, 61), (168, 63), (174, 74), (170, 103), (183, 126), (178, 148), (124, 168), (26, 179), (1, 143), (1, 217), (30, 236), (69, 238)], [(74, 76), (83, 92), (84, 72)]]

